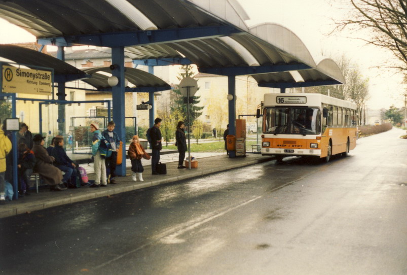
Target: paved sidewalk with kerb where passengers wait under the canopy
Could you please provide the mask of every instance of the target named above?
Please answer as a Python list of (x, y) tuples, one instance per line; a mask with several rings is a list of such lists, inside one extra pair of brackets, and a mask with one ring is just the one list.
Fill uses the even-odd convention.
[[(25, 196), (23, 198), (19, 198), (18, 200), (8, 201), (5, 205), (0, 205), (0, 218), (31, 213), (32, 211), (36, 210), (42, 210), (55, 207), (57, 205), (69, 204), (98, 197), (109, 197), (122, 192), (201, 177), (220, 171), (230, 170), (274, 159), (274, 157), (262, 156), (261, 154), (247, 154), (246, 157), (240, 158), (229, 158), (225, 153), (219, 153), (215, 156), (213, 156), (213, 154), (214, 153), (194, 153), (193, 156), (198, 160), (198, 168), (191, 170), (177, 169), (177, 153), (162, 155), (161, 161), (167, 164), (167, 175), (152, 175), (150, 165), (151, 161), (146, 161), (143, 163), (144, 182), (132, 181), (132, 177), (130, 176), (131, 165), (126, 163), (127, 175), (129, 176), (117, 177), (117, 184), (108, 184), (107, 187), (89, 188), (88, 186), (84, 186), (82, 188), (67, 189), (61, 192), (51, 192), (47, 188), (40, 189), (38, 194), (35, 193), (35, 191), (31, 191), (30, 196)], [(93, 165), (85, 165), (85, 168), (89, 173), (89, 178), (92, 180), (94, 177)]]

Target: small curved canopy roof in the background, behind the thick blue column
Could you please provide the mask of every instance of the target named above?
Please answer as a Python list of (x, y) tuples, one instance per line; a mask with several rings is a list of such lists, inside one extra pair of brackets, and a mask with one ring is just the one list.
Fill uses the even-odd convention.
[[(90, 74), (91, 77), (83, 79), (82, 81), (96, 87), (99, 91), (112, 89), (107, 83), (107, 79), (112, 72), (109, 67), (84, 68), (83, 71)], [(151, 91), (164, 91), (171, 89), (171, 86), (162, 79), (136, 68), (126, 67), (124, 76), (129, 83), (132, 84), (130, 86), (135, 86), (135, 88), (126, 87), (125, 91), (141, 91), (141, 88), (144, 88), (144, 92), (147, 91), (145, 88), (151, 88)]]

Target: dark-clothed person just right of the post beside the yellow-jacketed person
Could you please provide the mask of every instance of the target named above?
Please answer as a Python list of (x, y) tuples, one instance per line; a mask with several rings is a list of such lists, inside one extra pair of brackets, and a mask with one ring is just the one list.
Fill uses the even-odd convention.
[(32, 170), (35, 166), (34, 153), (28, 148), (25, 143), (20, 143), (17, 147), (17, 173), (18, 173), (18, 195), (23, 197), (29, 195), (29, 183)]

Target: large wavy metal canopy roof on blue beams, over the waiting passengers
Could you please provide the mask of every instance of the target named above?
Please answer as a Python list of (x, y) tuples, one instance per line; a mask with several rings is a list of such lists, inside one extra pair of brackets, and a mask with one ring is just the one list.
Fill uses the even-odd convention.
[(262, 86), (344, 83), (334, 62), (316, 64), (290, 30), (247, 27), (236, 0), (0, 0), (0, 17), (43, 43), (126, 46), (133, 59), (186, 57), (200, 72), (253, 75)]

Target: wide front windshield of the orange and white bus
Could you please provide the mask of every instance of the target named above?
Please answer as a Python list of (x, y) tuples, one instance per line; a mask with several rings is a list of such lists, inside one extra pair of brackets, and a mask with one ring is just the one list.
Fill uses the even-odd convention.
[(321, 111), (318, 108), (265, 108), (264, 133), (320, 134)]

